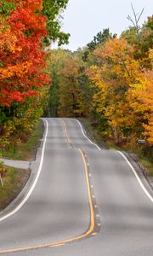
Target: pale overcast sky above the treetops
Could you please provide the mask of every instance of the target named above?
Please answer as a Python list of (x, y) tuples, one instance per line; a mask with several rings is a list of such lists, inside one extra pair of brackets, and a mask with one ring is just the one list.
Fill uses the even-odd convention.
[(69, 0), (61, 20), (62, 31), (70, 32), (70, 44), (64, 49), (76, 50), (91, 42), (98, 32), (110, 28), (110, 32), (119, 36), (132, 23), (127, 15), (133, 17), (133, 8), (141, 16), (140, 24), (153, 15), (153, 0)]

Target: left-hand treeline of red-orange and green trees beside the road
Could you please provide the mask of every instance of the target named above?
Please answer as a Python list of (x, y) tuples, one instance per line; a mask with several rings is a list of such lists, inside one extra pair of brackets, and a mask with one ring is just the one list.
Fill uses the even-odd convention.
[(68, 41), (59, 13), (68, 0), (2, 0), (0, 3), (0, 148), (26, 141), (46, 108), (48, 46)]

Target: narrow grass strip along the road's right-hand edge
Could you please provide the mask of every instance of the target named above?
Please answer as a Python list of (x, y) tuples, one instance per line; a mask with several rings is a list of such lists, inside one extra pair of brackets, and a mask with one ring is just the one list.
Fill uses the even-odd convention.
[[(111, 140), (105, 141), (103, 137), (100, 136), (98, 128), (94, 127), (91, 124), (89, 119), (80, 119), (86, 131), (88, 132), (88, 136), (94, 139), (95, 143), (98, 143), (102, 148), (116, 149), (116, 150), (125, 150), (125, 148), (121, 148), (116, 146)], [(150, 151), (144, 152), (142, 147), (138, 148), (126, 148), (126, 151), (131, 154), (136, 154), (140, 166), (144, 168), (144, 170), (150, 175), (153, 179), (153, 153)]]

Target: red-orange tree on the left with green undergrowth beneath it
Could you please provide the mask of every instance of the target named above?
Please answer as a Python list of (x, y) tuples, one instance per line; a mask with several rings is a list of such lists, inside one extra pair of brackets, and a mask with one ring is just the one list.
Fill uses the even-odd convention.
[[(3, 1), (1, 4), (0, 131), (1, 142), (5, 145), (9, 142), (8, 137), (14, 136), (17, 127), (18, 131), (23, 128), (27, 108), (31, 108), (31, 116), (35, 112), (32, 108), (36, 104), (32, 103), (40, 101), (44, 96), (43, 88), (49, 82), (44, 70), (46, 53), (42, 49), (42, 38), (48, 33), (46, 18), (40, 14), (41, 10), (41, 0)], [(31, 104), (28, 105), (30, 98)], [(36, 117), (39, 118), (37, 113)], [(26, 129), (29, 125), (27, 121), (28, 118)], [(33, 119), (31, 126), (35, 121)]]

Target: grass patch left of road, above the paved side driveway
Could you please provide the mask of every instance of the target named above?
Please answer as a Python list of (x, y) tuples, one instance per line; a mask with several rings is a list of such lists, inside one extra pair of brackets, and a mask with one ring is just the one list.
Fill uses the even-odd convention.
[(30, 137), (27, 138), (26, 143), (20, 143), (15, 147), (10, 145), (8, 151), (0, 151), (0, 156), (13, 160), (34, 160), (37, 147), (42, 137), (42, 130), (43, 125), (42, 122), (39, 121), (31, 132)]

